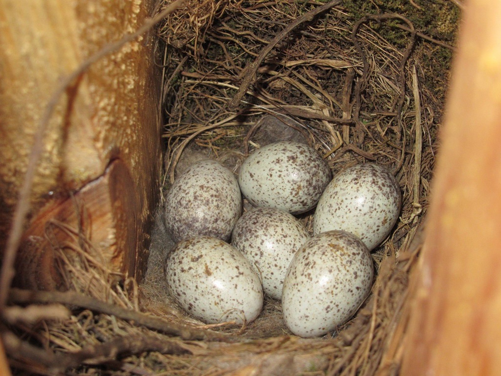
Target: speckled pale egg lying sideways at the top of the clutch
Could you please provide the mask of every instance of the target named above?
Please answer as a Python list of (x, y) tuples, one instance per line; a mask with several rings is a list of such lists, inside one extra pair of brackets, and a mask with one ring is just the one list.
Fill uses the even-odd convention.
[(240, 167), (238, 183), (254, 206), (292, 214), (317, 205), (331, 170), (312, 147), (294, 141), (268, 144), (250, 154)]

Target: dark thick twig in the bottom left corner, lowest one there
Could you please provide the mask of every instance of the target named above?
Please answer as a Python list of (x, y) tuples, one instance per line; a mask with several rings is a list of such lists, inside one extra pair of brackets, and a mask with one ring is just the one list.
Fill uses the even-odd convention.
[(162, 354), (191, 353), (188, 346), (178, 340), (160, 339), (154, 335), (123, 336), (94, 346), (84, 347), (77, 352), (54, 353), (43, 350), (19, 339), (14, 333), (4, 331), (2, 339), (8, 354), (14, 358), (29, 359), (57, 371), (79, 366), (82, 363), (100, 364), (115, 359), (121, 354), (139, 354), (144, 351), (158, 351)]

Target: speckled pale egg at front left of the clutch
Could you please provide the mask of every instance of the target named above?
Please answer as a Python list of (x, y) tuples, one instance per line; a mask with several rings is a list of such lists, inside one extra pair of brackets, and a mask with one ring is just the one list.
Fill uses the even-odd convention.
[(209, 324), (250, 322), (263, 307), (258, 275), (240, 252), (220, 239), (179, 242), (165, 259), (164, 276), (179, 305)]

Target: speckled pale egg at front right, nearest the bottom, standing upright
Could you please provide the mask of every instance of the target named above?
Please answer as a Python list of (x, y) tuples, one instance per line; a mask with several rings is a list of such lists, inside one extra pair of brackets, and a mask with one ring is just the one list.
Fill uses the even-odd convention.
[(294, 256), (282, 292), (289, 329), (316, 337), (349, 320), (370, 292), (373, 263), (353, 234), (328, 231), (311, 238)]

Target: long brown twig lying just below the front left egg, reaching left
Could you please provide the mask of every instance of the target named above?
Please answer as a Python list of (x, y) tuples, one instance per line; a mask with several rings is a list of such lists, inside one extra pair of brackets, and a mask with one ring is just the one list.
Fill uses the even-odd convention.
[(114, 315), (124, 320), (132, 320), (138, 326), (146, 326), (150, 329), (158, 330), (165, 334), (179, 336), (185, 340), (207, 340), (207, 341), (223, 341), (232, 342), (233, 337), (221, 333), (212, 332), (209, 330), (200, 330), (189, 327), (187, 325), (179, 325), (167, 323), (162, 319), (147, 315), (142, 312), (136, 312), (113, 304), (109, 304), (90, 296), (78, 294), (75, 292), (58, 292), (58, 291), (31, 291), (21, 290), (17, 288), (11, 289), (9, 298), (11, 302), (18, 304), (28, 303), (61, 303), (73, 305)]

